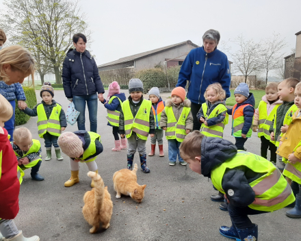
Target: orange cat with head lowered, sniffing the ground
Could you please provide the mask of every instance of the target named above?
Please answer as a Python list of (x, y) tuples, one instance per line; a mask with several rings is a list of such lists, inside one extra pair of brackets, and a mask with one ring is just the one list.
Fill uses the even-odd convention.
[(133, 170), (121, 169), (114, 173), (113, 182), (114, 190), (117, 192), (116, 198), (120, 199), (121, 194), (131, 196), (138, 203), (144, 198), (144, 189), (146, 185), (140, 186), (137, 183), (138, 166), (135, 164)]

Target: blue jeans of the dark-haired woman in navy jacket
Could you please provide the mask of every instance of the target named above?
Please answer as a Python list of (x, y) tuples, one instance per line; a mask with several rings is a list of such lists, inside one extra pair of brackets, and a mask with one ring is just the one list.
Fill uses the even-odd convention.
[(97, 104), (98, 97), (97, 94), (90, 95), (73, 95), (73, 103), (75, 105), (75, 110), (81, 112), (77, 118), (77, 127), (79, 130), (86, 131), (85, 126), (85, 111), (86, 102), (88, 105), (89, 118), (90, 118), (90, 131), (97, 133)]

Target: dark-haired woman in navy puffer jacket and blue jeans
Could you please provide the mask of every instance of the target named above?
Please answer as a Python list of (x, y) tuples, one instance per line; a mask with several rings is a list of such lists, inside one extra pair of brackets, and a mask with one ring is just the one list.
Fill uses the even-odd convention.
[(86, 130), (86, 103), (89, 110), (90, 131), (97, 132), (97, 94), (103, 101), (103, 83), (94, 58), (86, 50), (87, 38), (83, 34), (73, 36), (75, 49), (69, 49), (63, 64), (63, 86), (67, 99), (73, 101), (80, 112), (77, 118), (79, 130)]

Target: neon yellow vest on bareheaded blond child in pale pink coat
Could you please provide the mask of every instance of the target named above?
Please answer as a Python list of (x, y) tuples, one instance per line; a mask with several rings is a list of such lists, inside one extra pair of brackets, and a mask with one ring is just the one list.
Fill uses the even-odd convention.
[(277, 112), (277, 109), (281, 104), (277, 104), (274, 106), (273, 110), (270, 112), (269, 116), (267, 116), (267, 103), (265, 101), (260, 101), (258, 109), (259, 109), (259, 121), (258, 121), (258, 137), (264, 136), (265, 139), (271, 140), (270, 136), (270, 125), (273, 123), (274, 116)]

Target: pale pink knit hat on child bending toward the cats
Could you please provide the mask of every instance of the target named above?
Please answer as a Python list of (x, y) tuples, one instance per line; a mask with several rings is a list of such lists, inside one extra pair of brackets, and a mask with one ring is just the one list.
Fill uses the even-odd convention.
[(68, 157), (75, 158), (83, 154), (83, 142), (73, 132), (64, 132), (57, 139), (57, 144)]

